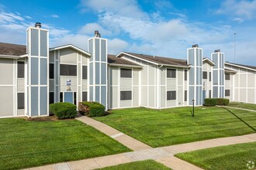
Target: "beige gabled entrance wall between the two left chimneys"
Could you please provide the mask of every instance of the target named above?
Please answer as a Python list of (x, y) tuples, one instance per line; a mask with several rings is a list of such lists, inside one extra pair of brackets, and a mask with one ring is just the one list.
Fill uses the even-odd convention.
[[(73, 96), (74, 93), (77, 94), (76, 105), (82, 101), (82, 92), (88, 92), (88, 78), (87, 80), (82, 79), (82, 66), (87, 66), (88, 70), (88, 60), (87, 56), (71, 48), (50, 52), (50, 63), (54, 64), (54, 79), (50, 79), (50, 92), (54, 92), (54, 102), (60, 102), (60, 93), (64, 95), (67, 91), (73, 92)], [(61, 64), (77, 66), (77, 76), (61, 76)], [(67, 84), (69, 80), (71, 80), (71, 85)], [(69, 87), (70, 89), (67, 89)]]

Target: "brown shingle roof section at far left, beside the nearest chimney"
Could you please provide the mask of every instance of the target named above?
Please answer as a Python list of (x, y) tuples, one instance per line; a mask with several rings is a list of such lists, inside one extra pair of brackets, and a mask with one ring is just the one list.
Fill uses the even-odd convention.
[(26, 46), (0, 42), (0, 55), (22, 56), (26, 54)]

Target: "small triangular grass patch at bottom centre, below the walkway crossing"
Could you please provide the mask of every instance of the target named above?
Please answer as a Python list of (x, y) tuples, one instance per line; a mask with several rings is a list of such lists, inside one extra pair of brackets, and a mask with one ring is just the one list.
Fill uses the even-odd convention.
[(131, 163), (127, 163), (127, 164), (121, 164), (121, 165), (116, 165), (116, 166), (110, 166), (110, 167), (106, 167), (106, 168), (100, 168), (101, 170), (158, 170), (158, 169), (162, 169), (162, 170), (170, 170), (171, 168), (168, 168), (164, 165), (162, 165), (161, 163), (155, 162), (153, 160), (147, 160), (147, 161), (141, 161), (141, 162), (131, 162)]

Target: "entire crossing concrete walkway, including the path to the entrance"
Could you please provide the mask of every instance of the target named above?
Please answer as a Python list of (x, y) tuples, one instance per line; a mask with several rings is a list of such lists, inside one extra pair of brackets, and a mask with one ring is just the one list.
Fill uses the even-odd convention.
[(145, 145), (141, 141), (137, 141), (130, 136), (117, 131), (109, 125), (103, 124), (102, 122), (95, 121), (90, 117), (79, 116), (76, 117), (78, 121), (84, 122), (92, 126), (93, 128), (102, 131), (104, 134), (109, 135), (111, 138), (116, 139), (121, 144), (128, 148), (133, 149), (131, 152), (126, 152), (118, 155), (108, 155), (99, 158), (89, 158), (74, 162), (64, 162), (54, 165), (46, 165), (35, 168), (28, 168), (29, 170), (84, 170), (94, 168), (104, 168), (112, 165), (120, 165), (129, 162), (144, 161), (147, 159), (154, 159), (157, 162), (164, 164), (165, 166), (172, 169), (202, 169), (195, 165), (185, 162), (182, 159), (176, 158), (174, 155), (186, 151), (195, 151), (203, 148), (213, 148), (224, 145), (234, 145), (247, 142), (256, 141), (255, 134), (247, 134), (243, 136), (235, 136), (228, 138), (215, 138), (206, 141), (195, 141), (192, 143), (171, 145), (161, 148), (151, 148)]

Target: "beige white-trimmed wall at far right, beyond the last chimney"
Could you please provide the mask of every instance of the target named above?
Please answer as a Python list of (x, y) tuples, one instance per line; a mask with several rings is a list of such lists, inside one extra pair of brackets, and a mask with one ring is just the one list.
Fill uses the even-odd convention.
[(237, 71), (230, 74), (230, 80), (225, 81), (225, 89), (230, 89), (231, 101), (256, 104), (256, 71), (238, 66), (225, 65), (226, 68)]

